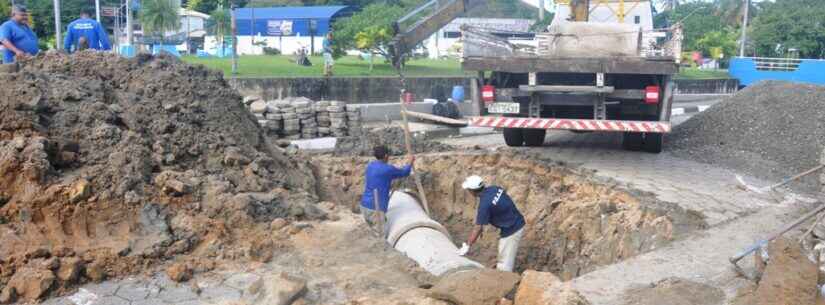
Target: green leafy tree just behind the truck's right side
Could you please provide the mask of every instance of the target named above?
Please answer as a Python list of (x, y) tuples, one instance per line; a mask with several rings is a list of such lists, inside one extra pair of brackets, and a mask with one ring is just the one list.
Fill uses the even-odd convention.
[(681, 21), (685, 35), (683, 49), (699, 50), (699, 39), (706, 33), (724, 31), (726, 28), (722, 19), (714, 15), (714, 12), (716, 12), (716, 7), (713, 3), (687, 2), (680, 4), (674, 10), (657, 14), (653, 18), (653, 23), (656, 28), (664, 28)]

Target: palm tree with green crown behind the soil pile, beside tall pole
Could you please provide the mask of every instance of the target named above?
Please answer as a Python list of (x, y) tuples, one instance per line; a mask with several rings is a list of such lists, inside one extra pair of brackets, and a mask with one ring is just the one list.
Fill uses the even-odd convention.
[(180, 29), (179, 10), (180, 0), (144, 0), (140, 13), (143, 32), (157, 35), (164, 42), (164, 33)]

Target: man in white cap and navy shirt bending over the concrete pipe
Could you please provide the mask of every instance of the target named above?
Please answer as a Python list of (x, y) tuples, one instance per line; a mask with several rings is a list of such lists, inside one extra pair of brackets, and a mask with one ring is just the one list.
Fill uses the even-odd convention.
[(484, 179), (479, 176), (467, 177), (461, 187), (478, 198), (479, 202), (476, 226), (467, 242), (458, 250), (458, 254), (467, 254), (470, 247), (481, 237), (484, 226), (489, 224), (499, 229), (496, 269), (513, 272), (518, 244), (524, 235), (524, 216), (503, 188), (485, 186)]

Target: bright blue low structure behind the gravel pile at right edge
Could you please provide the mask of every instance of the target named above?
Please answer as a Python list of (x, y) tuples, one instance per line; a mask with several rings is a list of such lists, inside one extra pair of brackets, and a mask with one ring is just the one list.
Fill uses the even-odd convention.
[(825, 60), (802, 59), (796, 71), (760, 71), (753, 58), (733, 58), (728, 73), (739, 84), (749, 86), (762, 80), (784, 80), (825, 85)]

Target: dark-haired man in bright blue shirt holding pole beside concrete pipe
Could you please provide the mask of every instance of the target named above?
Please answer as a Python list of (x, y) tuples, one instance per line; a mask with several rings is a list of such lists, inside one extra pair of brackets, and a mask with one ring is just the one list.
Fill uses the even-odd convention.
[[(375, 225), (386, 223), (385, 214), (390, 202), (390, 186), (392, 180), (407, 177), (412, 172), (415, 157), (410, 156), (409, 162), (402, 168), (389, 164), (390, 154), (386, 146), (379, 145), (373, 148), (375, 161), (367, 165), (364, 172), (364, 194), (361, 196), (361, 215), (367, 224), (375, 228)], [(377, 200), (375, 196), (378, 196)], [(378, 210), (376, 211), (376, 205)], [(379, 229), (379, 228), (376, 228)]]

